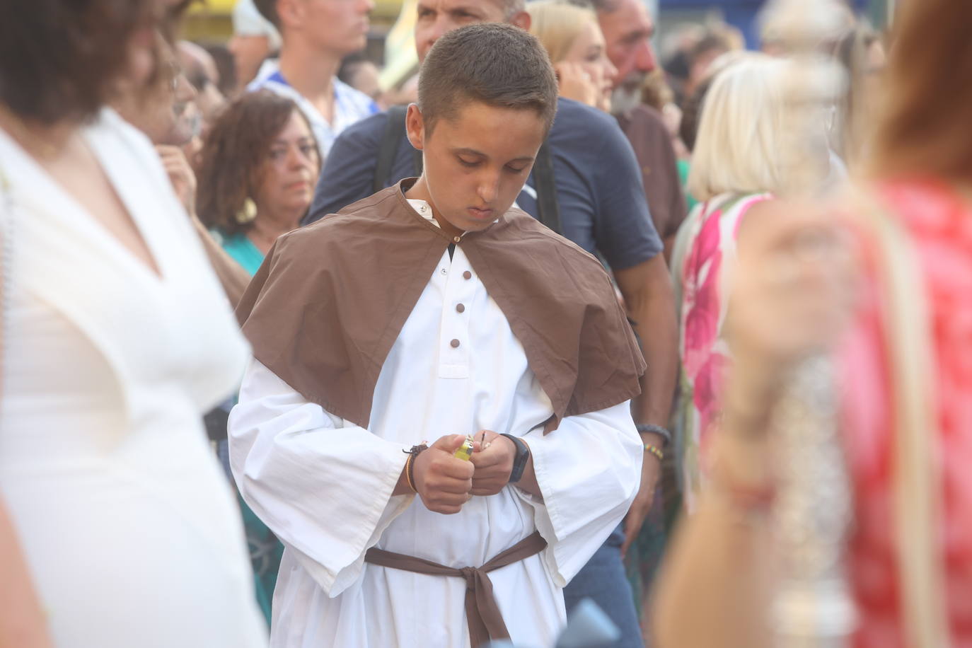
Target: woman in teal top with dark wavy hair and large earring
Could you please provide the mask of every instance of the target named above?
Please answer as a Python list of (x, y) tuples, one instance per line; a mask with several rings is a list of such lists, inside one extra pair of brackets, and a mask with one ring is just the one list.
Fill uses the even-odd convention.
[[(317, 142), (291, 99), (267, 90), (230, 103), (206, 137), (196, 211), (226, 254), (254, 275), (278, 236), (297, 227), (321, 171)], [(226, 456), (226, 440), (220, 442)], [(270, 622), (283, 545), (237, 495), (257, 600)]]

